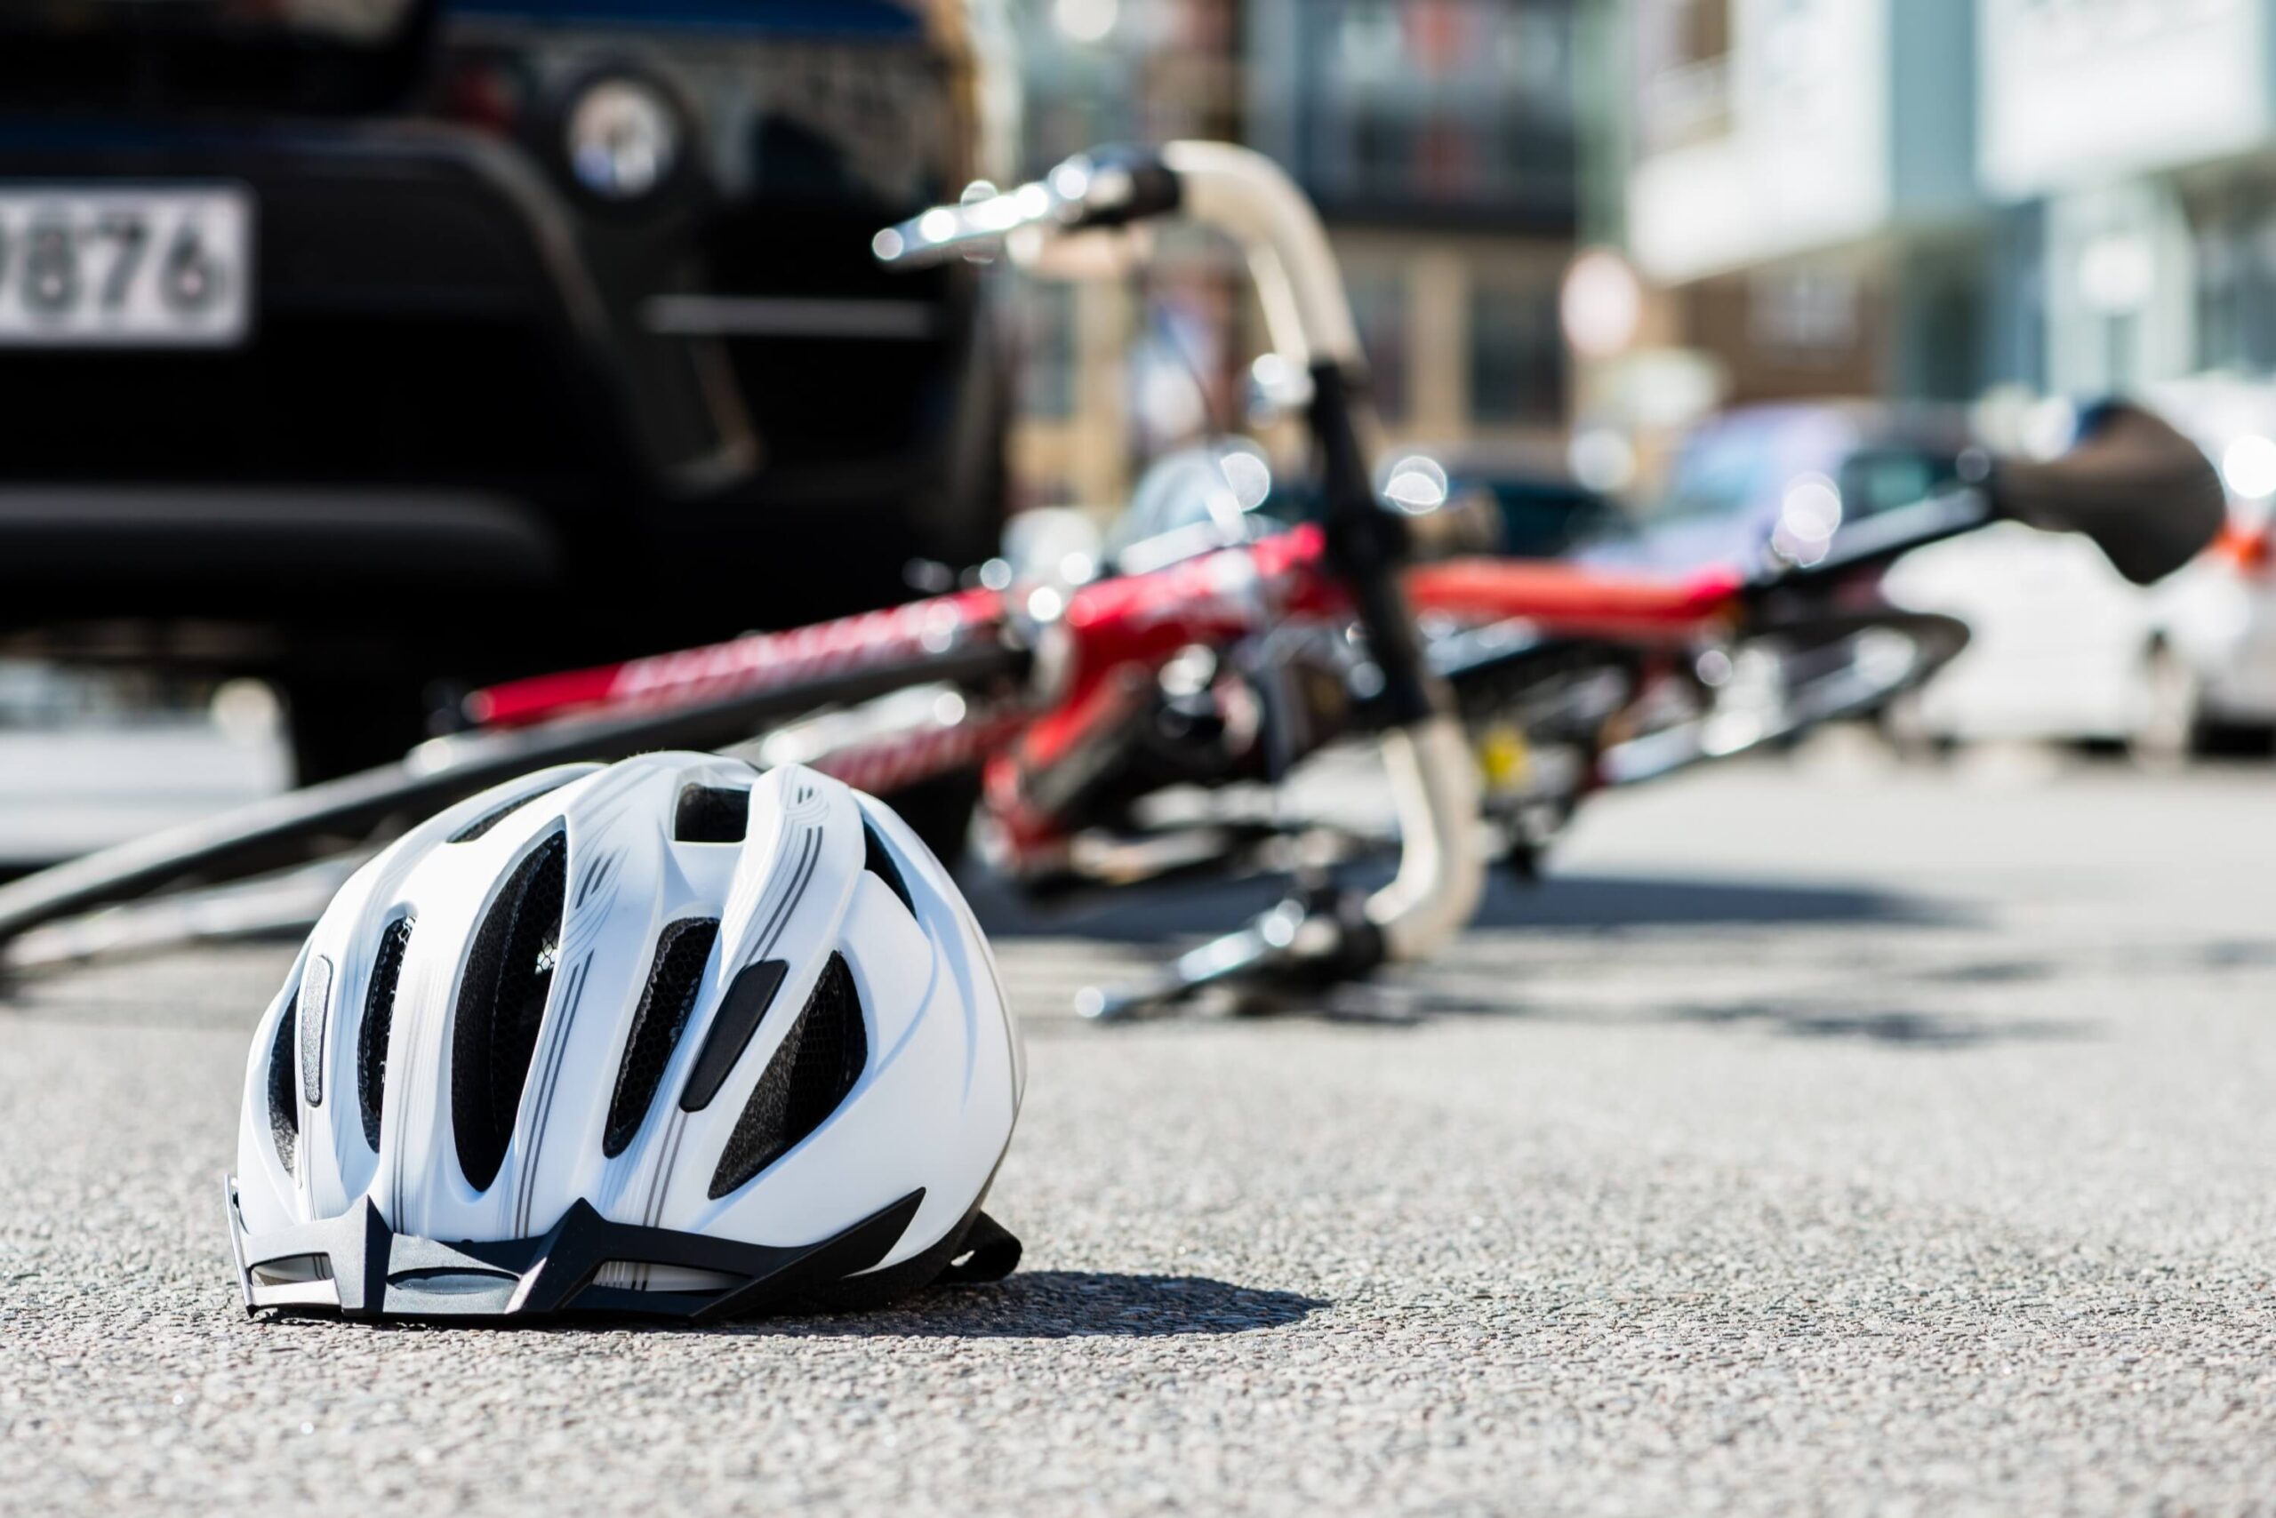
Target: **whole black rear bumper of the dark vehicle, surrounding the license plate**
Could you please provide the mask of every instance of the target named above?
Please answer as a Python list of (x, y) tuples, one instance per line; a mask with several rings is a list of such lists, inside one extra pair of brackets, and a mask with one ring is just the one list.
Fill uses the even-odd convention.
[[(628, 262), (464, 127), (0, 114), (0, 180), (241, 184), (257, 280), (237, 348), (0, 346), (0, 633), (353, 630), (496, 676), (872, 608), (910, 558), (995, 546), (967, 508), (999, 494), (963, 489), (999, 416), (972, 278), (894, 287), (906, 330), (865, 341), (774, 330), (874, 314), (824, 298), (840, 253), (883, 278), (867, 234), (790, 248), (794, 298), (651, 321), (683, 259)], [(683, 330), (747, 307), (769, 335)]]

